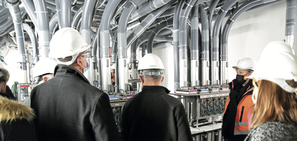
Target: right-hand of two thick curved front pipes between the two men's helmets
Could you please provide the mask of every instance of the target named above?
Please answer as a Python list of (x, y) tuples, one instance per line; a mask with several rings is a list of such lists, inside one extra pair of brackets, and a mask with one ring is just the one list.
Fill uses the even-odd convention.
[[(126, 69), (127, 66), (127, 39), (126, 39), (126, 30), (127, 23), (130, 19), (131, 13), (136, 9), (138, 5), (142, 3), (143, 0), (132, 0), (126, 4), (126, 8), (123, 10), (122, 15), (120, 17), (118, 25), (118, 68), (119, 70)], [(132, 52), (131, 52), (132, 53)], [(135, 52), (134, 52), (135, 53)], [(132, 54), (131, 54), (132, 55)], [(132, 55), (133, 56), (133, 55)], [(131, 56), (131, 59), (132, 59)], [(119, 72), (120, 77), (120, 89), (126, 90), (128, 86), (128, 80), (126, 79), (125, 71)]]

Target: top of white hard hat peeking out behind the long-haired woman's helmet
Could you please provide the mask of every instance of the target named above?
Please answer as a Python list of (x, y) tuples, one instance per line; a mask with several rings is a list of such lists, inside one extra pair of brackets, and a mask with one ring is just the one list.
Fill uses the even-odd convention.
[(264, 57), (265, 55), (271, 54), (273, 52), (288, 52), (295, 54), (292, 47), (286, 42), (274, 41), (266, 45), (265, 49), (261, 53), (261, 57)]

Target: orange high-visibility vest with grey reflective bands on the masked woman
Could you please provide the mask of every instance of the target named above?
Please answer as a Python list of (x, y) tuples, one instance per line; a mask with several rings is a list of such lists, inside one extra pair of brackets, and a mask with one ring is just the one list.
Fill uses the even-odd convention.
[[(232, 89), (234, 88), (233, 81), (232, 81)], [(254, 86), (252, 85), (248, 90), (244, 93), (241, 97), (239, 104), (237, 105), (237, 113), (235, 118), (235, 128), (234, 128), (234, 135), (247, 135), (249, 133), (249, 126), (248, 126), (248, 117), (247, 114), (251, 107), (253, 107), (254, 103), (252, 100)], [(230, 102), (229, 96), (227, 98), (227, 102), (225, 104), (224, 114), (226, 112), (227, 106)]]

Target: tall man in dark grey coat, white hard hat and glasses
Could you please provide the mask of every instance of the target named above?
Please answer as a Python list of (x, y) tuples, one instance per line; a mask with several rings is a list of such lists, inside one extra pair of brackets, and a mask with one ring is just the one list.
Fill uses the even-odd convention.
[(73, 28), (62, 28), (51, 39), (49, 56), (59, 63), (55, 76), (31, 92), (38, 140), (120, 140), (108, 95), (83, 75), (89, 47)]

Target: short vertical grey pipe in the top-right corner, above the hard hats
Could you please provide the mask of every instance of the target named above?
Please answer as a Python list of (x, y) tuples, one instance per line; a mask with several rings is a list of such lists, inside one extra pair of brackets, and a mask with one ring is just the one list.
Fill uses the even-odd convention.
[(294, 45), (295, 9), (296, 0), (287, 0), (285, 38), (291, 47)]

